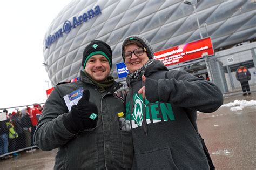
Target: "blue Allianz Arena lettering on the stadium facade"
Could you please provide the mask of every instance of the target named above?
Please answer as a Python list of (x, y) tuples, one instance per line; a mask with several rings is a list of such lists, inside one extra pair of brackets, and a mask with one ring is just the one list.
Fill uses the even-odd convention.
[(63, 28), (60, 28), (58, 31), (56, 31), (52, 35), (49, 35), (45, 39), (46, 49), (49, 48), (52, 43), (56, 42), (56, 40), (62, 37), (63, 33), (68, 34), (72, 29), (76, 28), (76, 26), (79, 26), (82, 23), (89, 21), (91, 18), (99, 15), (100, 13), (102, 12), (100, 10), (100, 7), (97, 5), (95, 6), (94, 10), (90, 9), (89, 11), (83, 13), (83, 15), (73, 17), (72, 22), (70, 22), (69, 20), (65, 21), (63, 23)]

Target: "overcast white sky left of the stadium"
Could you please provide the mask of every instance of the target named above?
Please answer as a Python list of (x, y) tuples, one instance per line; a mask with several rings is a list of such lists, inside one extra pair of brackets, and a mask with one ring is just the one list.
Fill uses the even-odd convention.
[(45, 102), (45, 81), (51, 83), (42, 66), (44, 35), (69, 2), (0, 1), (0, 108)]

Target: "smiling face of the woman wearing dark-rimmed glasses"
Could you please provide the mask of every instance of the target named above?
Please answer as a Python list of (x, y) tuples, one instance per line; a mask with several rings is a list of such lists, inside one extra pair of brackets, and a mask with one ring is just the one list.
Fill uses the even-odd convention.
[(138, 70), (140, 67), (145, 65), (147, 63), (147, 61), (149, 60), (149, 57), (147, 57), (146, 51), (144, 51), (143, 54), (140, 56), (136, 56), (134, 54), (133, 51), (138, 48), (140, 48), (140, 47), (136, 44), (129, 44), (129, 45), (125, 46), (124, 52), (128, 52), (128, 51), (132, 52), (131, 58), (125, 59), (125, 65), (130, 73), (133, 73), (136, 70)]

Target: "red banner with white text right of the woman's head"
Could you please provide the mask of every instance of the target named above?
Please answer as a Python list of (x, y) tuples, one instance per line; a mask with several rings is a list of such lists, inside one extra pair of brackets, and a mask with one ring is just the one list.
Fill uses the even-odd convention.
[(201, 58), (203, 53), (207, 56), (214, 55), (211, 37), (155, 52), (154, 59), (160, 60), (167, 66)]

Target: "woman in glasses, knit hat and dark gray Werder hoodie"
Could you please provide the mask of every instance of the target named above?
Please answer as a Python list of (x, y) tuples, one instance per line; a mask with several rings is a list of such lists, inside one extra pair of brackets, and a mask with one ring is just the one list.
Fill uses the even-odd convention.
[(197, 130), (197, 111), (211, 113), (223, 94), (210, 81), (185, 71), (168, 70), (154, 60), (142, 36), (124, 39), (126, 120), (130, 120), (134, 169), (209, 169)]

